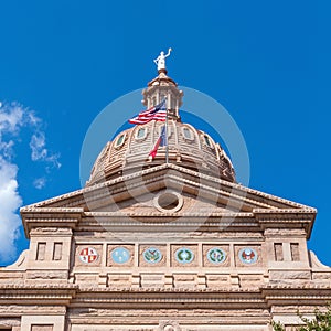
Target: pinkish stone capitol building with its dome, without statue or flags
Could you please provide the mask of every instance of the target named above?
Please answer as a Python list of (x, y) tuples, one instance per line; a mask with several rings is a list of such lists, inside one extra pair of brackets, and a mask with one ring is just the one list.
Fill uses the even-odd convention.
[(0, 330), (266, 331), (331, 300), (307, 248), (317, 211), (236, 183), (221, 146), (180, 121), (164, 71), (145, 104), (162, 94), (169, 163), (146, 160), (162, 124), (137, 126), (85, 188), (21, 209), (30, 248), (0, 269)]

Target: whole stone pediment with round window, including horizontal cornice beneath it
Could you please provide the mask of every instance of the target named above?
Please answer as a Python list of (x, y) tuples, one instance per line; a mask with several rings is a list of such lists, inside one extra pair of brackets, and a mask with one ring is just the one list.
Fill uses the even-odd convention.
[[(159, 196), (178, 196), (167, 209)], [(166, 199), (167, 200), (167, 199)], [(160, 209), (161, 205), (161, 209)], [(178, 167), (162, 164), (21, 209), (26, 235), (34, 227), (146, 234), (159, 231), (252, 232), (305, 228), (307, 237), (316, 210), (243, 185)], [(203, 221), (203, 222), (202, 222)]]

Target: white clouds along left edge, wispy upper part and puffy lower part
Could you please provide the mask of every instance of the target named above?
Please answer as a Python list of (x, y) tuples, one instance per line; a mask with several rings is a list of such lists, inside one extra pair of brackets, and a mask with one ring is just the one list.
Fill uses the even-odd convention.
[[(51, 153), (46, 148), (42, 127), (43, 122), (34, 111), (18, 103), (0, 102), (0, 260), (3, 261), (15, 256), (14, 243), (21, 225), (18, 209), (22, 205), (22, 197), (18, 191), (19, 167), (14, 163), (15, 141), (20, 141), (21, 130), (28, 128), (31, 131), (33, 162), (44, 162), (45, 172), (50, 168), (61, 167), (60, 154)], [(42, 189), (46, 181), (45, 177), (41, 177), (33, 181), (33, 185)]]

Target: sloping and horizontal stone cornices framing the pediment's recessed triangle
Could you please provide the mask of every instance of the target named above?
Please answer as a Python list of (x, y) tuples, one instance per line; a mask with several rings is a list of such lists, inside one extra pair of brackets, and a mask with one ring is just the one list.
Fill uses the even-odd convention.
[[(181, 175), (179, 175), (179, 173)], [(182, 185), (191, 193), (193, 192), (193, 194), (201, 195), (203, 199), (209, 199), (214, 203), (226, 205), (228, 210), (238, 210), (241, 212), (178, 212), (162, 214), (153, 211), (153, 209), (142, 213), (139, 209), (128, 213), (120, 211), (108, 213), (84, 212), (84, 210), (87, 209), (86, 203), (89, 209), (99, 209), (109, 203), (117, 203), (130, 199), (131, 195), (135, 196), (135, 194), (139, 194), (141, 180), (143, 180), (145, 185), (148, 185), (149, 189), (152, 188), (151, 191), (160, 190), (160, 183), (166, 185), (166, 182), (167, 186), (173, 189), (178, 185)], [(81, 206), (85, 205), (85, 209), (76, 207), (75, 205), (77, 204)], [(109, 224), (111, 224), (121, 227), (127, 226), (129, 228), (132, 224), (130, 224), (129, 220), (125, 220), (125, 217), (127, 217), (134, 218), (135, 221), (141, 220), (141, 227), (146, 227), (146, 225), (153, 227), (160, 226), (162, 222), (175, 223), (174, 227), (191, 227), (191, 223), (195, 222), (194, 218), (197, 220), (201, 217), (209, 220), (209, 226), (212, 227), (217, 226), (217, 222), (218, 225), (221, 224), (222, 226), (236, 226), (239, 228), (253, 226), (259, 231), (268, 227), (301, 227), (305, 228), (307, 237), (309, 237), (316, 212), (314, 209), (309, 206), (202, 174), (175, 164), (153, 167), (142, 170), (139, 173), (127, 174), (105, 183), (87, 186), (76, 192), (21, 209), (26, 236), (29, 236), (32, 227), (52, 226), (52, 224), (54, 224), (54, 226), (71, 228), (77, 226), (78, 228), (96, 228), (96, 226), (109, 226)], [(93, 217), (98, 218), (97, 224), (92, 221)], [(148, 217), (162, 221), (154, 222), (148, 220)], [(171, 217), (172, 220), (170, 220)], [(103, 218), (105, 220), (105, 224), (103, 223)], [(172, 222), (173, 218), (179, 222)], [(213, 220), (217, 220), (217, 222), (213, 223)], [(120, 221), (121, 224), (119, 224), (118, 221)], [(135, 225), (138, 226), (139, 224)]]

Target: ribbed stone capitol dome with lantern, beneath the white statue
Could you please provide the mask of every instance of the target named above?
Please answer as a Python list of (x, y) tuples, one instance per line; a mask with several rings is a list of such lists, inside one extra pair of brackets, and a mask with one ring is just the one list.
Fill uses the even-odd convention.
[[(183, 93), (167, 76), (166, 70), (159, 71), (142, 95), (147, 108), (167, 97), (169, 163), (235, 182), (232, 162), (220, 143), (206, 132), (181, 121), (179, 107)], [(166, 147), (159, 147), (152, 161), (148, 158), (163, 126), (164, 121), (156, 120), (136, 125), (107, 142), (95, 161), (87, 185), (166, 163)]]

